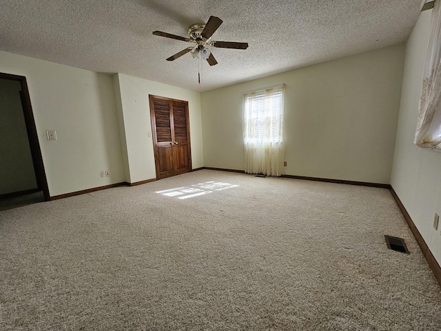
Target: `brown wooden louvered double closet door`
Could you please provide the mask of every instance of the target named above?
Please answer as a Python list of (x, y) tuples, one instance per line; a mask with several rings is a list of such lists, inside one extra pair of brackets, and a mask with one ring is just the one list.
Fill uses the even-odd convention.
[(156, 178), (192, 170), (188, 102), (149, 96)]

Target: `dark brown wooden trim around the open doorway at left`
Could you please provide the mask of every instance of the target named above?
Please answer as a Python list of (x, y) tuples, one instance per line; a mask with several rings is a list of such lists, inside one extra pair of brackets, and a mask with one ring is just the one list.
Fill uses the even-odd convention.
[(34, 113), (32, 112), (32, 105), (30, 103), (30, 95), (28, 90), (28, 82), (26, 77), (17, 74), (6, 74), (0, 72), (0, 79), (8, 79), (10, 81), (19, 81), (21, 85), (21, 100), (23, 114), (25, 117), (26, 130), (28, 132), (30, 152), (32, 155), (32, 163), (34, 163), (34, 172), (37, 179), (37, 185), (43, 191), (45, 201), (50, 201), (50, 194), (48, 188), (48, 179), (44, 170), (43, 157), (41, 155), (41, 148), (39, 137), (37, 134), (37, 127), (35, 126)]

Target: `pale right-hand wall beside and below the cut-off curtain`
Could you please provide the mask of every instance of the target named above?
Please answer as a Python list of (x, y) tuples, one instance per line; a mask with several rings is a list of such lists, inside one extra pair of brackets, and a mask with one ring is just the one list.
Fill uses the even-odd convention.
[(441, 264), (441, 227), (433, 229), (435, 212), (441, 214), (441, 153), (413, 144), (430, 21), (431, 10), (422, 12), (407, 41), (391, 185)]

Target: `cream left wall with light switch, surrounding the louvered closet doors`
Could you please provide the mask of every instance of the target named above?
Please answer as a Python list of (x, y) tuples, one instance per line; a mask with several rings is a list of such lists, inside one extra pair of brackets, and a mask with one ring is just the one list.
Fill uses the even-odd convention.
[[(189, 101), (193, 168), (203, 167), (201, 94), (125, 74), (100, 74), (0, 52), (0, 72), (25, 76), (50, 195), (156, 178), (149, 94)], [(45, 130), (57, 130), (47, 141)], [(101, 170), (110, 177), (101, 178)]]

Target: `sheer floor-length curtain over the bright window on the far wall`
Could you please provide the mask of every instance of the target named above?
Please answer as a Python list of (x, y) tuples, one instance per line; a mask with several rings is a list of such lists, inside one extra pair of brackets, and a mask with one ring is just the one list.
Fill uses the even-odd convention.
[(283, 174), (283, 86), (244, 95), (245, 172)]

